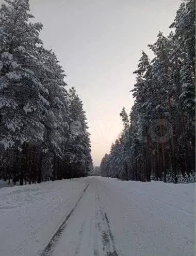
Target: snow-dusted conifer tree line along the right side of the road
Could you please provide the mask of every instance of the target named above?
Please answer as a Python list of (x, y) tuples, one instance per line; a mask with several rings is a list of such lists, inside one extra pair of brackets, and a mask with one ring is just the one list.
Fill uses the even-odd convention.
[(131, 91), (135, 98), (120, 139), (111, 145), (100, 174), (125, 180), (193, 182), (195, 170), (195, 3), (183, 0), (170, 26), (142, 51)]

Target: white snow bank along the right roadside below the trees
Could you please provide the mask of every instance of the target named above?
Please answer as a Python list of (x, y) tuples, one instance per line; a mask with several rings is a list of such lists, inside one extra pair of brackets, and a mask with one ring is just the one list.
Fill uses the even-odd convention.
[(133, 197), (142, 196), (146, 201), (166, 204), (172, 208), (194, 215), (195, 210), (195, 183), (165, 183), (162, 181), (140, 182), (121, 181), (116, 178), (97, 177), (99, 180), (111, 184), (118, 189), (126, 190), (126, 195)]

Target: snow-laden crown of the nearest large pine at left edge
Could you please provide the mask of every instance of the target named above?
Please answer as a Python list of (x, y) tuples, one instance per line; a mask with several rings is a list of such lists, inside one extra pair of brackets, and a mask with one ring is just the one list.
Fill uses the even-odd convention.
[[(27, 141), (42, 141), (43, 112), (49, 105), (38, 75), (35, 52), (42, 44), (40, 23), (30, 23), (27, 0), (8, 1), (0, 9), (1, 143), (23, 148)], [(29, 118), (29, 115), (31, 116)]]

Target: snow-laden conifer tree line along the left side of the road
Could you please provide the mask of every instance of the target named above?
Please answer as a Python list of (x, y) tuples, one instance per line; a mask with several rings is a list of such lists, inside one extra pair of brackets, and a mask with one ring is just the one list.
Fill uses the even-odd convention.
[(87, 176), (92, 170), (83, 103), (31, 23), (28, 0), (0, 9), (0, 178), (15, 183)]

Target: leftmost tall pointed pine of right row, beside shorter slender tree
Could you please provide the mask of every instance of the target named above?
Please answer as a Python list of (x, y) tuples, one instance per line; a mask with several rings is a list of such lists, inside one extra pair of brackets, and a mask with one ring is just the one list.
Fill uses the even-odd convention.
[[(136, 130), (139, 146), (140, 158), (143, 158), (144, 165), (140, 163), (141, 175), (143, 180), (150, 181), (150, 174), (152, 166), (150, 164), (150, 140), (149, 140), (149, 120), (151, 120), (151, 96), (152, 96), (152, 66), (148, 55), (142, 51), (142, 56), (139, 60), (138, 69), (134, 72), (137, 75), (136, 84), (134, 85), (133, 96), (135, 97), (135, 104), (132, 111), (135, 112), (136, 117)], [(150, 92), (150, 93), (149, 93)]]

